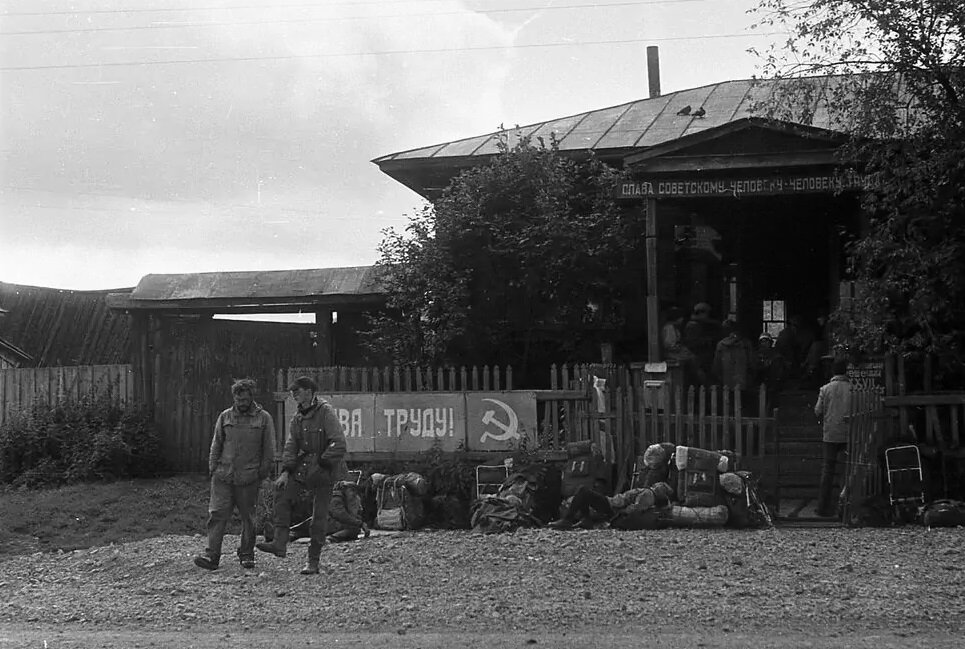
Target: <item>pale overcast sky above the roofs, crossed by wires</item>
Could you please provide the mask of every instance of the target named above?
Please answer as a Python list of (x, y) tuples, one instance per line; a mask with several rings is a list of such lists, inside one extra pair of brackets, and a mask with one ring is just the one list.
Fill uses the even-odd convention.
[(754, 75), (756, 0), (3, 0), (0, 281), (374, 263), (373, 158)]

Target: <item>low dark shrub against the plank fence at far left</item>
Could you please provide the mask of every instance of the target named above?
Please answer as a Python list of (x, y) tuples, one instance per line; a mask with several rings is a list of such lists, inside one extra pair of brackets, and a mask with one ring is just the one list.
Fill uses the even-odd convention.
[(0, 482), (22, 487), (153, 477), (162, 470), (150, 412), (105, 397), (34, 404), (0, 425)]

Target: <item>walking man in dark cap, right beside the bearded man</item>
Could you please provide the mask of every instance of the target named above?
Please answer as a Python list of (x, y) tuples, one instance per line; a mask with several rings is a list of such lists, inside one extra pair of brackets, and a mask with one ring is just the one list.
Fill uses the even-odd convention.
[(301, 573), (317, 575), (332, 486), (343, 479), (347, 471), (345, 434), (335, 409), (315, 395), (318, 387), (312, 379), (299, 377), (289, 390), (298, 404), (298, 413), (292, 417), (282, 453), (282, 473), (275, 480), (275, 538), (256, 547), (277, 557), (286, 555), (292, 503), (298, 499), (301, 489), (311, 489), (314, 493), (311, 541), (308, 563)]

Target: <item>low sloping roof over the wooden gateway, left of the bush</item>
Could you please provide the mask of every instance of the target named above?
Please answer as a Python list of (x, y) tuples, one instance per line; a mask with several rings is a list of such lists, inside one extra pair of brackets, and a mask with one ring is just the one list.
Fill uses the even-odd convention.
[(198, 313), (291, 313), (383, 300), (375, 266), (151, 274), (130, 293), (107, 296), (112, 309)]

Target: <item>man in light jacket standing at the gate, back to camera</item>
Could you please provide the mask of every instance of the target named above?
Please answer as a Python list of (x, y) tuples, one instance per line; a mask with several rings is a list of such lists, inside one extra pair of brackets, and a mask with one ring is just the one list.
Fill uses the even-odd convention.
[(834, 488), (834, 472), (838, 454), (848, 446), (848, 426), (851, 420), (851, 383), (848, 381), (848, 364), (843, 358), (831, 366), (834, 376), (818, 391), (814, 414), (824, 429), (824, 459), (821, 464), (821, 491), (818, 495), (817, 515), (834, 516), (835, 503), (831, 502)]

